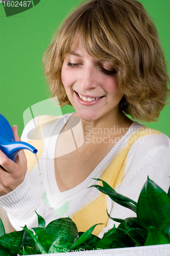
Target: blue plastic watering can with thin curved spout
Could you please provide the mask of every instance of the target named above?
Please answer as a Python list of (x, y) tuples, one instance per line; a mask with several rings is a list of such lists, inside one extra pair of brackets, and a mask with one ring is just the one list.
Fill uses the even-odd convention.
[(14, 162), (20, 150), (30, 150), (34, 154), (37, 153), (36, 148), (29, 143), (15, 141), (11, 125), (2, 114), (0, 114), (0, 150)]

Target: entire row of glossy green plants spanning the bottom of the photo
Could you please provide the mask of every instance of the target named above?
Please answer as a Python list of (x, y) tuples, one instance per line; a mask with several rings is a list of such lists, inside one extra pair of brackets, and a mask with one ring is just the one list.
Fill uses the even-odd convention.
[[(100, 180), (100, 179), (96, 179)], [(102, 180), (100, 180), (102, 181)], [(70, 218), (60, 218), (45, 227), (45, 220), (38, 216), (38, 227), (5, 234), (0, 219), (0, 255), (33, 255), (66, 251), (122, 248), (170, 243), (170, 189), (166, 194), (149, 178), (145, 182), (138, 202), (119, 195), (105, 181), (103, 186), (93, 185), (116, 203), (135, 211), (137, 218), (112, 220), (113, 226), (102, 239), (92, 233), (96, 225), (86, 232), (78, 232)]]

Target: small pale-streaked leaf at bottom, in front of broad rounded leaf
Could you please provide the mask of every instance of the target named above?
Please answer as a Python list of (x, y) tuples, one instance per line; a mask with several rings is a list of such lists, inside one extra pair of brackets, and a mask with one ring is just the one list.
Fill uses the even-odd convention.
[(58, 238), (56, 241), (54, 241), (54, 243), (48, 250), (48, 253), (66, 252), (68, 249), (69, 249), (68, 244), (61, 237), (61, 238)]

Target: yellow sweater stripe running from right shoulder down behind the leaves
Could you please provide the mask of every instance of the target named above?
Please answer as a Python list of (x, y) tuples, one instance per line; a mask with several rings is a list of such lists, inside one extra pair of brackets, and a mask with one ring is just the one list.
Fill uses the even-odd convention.
[[(127, 156), (131, 146), (137, 139), (150, 134), (161, 135), (160, 132), (151, 130), (147, 126), (144, 126), (137, 132), (133, 133), (129, 137), (126, 146), (119, 151), (108, 167), (103, 171), (100, 179), (106, 181), (112, 188), (119, 185), (122, 182), (125, 173)], [(99, 181), (99, 185), (102, 185), (101, 181)], [(92, 234), (98, 236), (102, 229), (107, 226), (107, 197), (107, 195), (100, 192), (98, 197), (72, 214), (71, 219), (76, 223), (78, 231), (85, 232), (94, 224), (104, 223), (104, 225), (97, 225), (92, 232)]]

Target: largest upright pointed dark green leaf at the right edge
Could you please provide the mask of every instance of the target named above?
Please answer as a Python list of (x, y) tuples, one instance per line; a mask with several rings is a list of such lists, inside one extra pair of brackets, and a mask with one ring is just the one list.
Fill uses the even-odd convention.
[(170, 198), (152, 180), (145, 182), (137, 203), (137, 219), (144, 228), (163, 230), (170, 222)]

